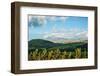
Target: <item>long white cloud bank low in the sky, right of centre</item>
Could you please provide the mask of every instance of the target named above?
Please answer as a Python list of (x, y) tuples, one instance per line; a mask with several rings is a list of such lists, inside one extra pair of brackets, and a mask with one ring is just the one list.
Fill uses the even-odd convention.
[(87, 39), (87, 31), (56, 31), (45, 33), (44, 38)]

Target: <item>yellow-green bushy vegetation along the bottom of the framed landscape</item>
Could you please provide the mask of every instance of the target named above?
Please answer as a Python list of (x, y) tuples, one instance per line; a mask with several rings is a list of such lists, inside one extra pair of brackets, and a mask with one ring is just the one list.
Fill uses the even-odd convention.
[(74, 51), (61, 50), (59, 48), (32, 49), (29, 51), (28, 60), (57, 60), (57, 59), (77, 59), (87, 58), (86, 48), (76, 48)]

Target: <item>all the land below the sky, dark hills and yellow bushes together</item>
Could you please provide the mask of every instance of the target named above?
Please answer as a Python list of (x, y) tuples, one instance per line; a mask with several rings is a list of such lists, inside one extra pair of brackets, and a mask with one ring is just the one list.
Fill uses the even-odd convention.
[(28, 42), (28, 60), (57, 60), (88, 58), (88, 43), (53, 43), (34, 39)]

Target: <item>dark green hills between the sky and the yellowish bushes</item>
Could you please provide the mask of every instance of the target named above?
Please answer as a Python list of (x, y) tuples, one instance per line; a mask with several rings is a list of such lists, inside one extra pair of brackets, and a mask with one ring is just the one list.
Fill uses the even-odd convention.
[(87, 41), (63, 44), (63, 43), (54, 43), (43, 39), (33, 39), (28, 41), (28, 47), (29, 49), (31, 48), (72, 48), (72, 47), (87, 48), (88, 44)]

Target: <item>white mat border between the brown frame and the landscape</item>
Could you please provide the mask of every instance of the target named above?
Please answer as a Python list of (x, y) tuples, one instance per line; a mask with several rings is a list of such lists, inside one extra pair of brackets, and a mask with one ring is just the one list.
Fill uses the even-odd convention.
[[(28, 61), (28, 14), (88, 17), (88, 59)], [(94, 11), (21, 7), (20, 8), (20, 69), (43, 69), (94, 65)]]

